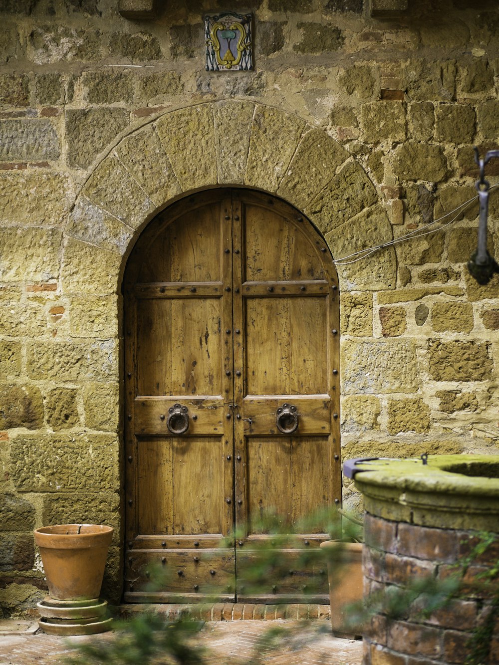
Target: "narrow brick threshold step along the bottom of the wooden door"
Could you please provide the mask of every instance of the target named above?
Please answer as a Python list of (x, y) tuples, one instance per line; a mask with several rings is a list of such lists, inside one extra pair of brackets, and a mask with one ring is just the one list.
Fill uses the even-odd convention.
[(316, 620), (331, 618), (329, 605), (283, 603), (279, 605), (252, 604), (248, 602), (216, 602), (215, 604), (122, 604), (120, 618), (132, 618), (134, 614), (153, 610), (166, 620), (190, 617), (203, 621), (248, 621), (251, 619)]

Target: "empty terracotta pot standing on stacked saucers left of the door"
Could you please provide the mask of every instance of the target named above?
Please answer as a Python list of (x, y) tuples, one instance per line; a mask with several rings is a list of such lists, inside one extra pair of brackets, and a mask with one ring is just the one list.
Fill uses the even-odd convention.
[(98, 598), (112, 527), (97, 524), (59, 524), (35, 529), (35, 543), (56, 600)]

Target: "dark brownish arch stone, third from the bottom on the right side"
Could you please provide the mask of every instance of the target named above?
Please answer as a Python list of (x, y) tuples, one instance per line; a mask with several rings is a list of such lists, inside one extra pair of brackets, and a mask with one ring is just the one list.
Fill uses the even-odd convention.
[(322, 233), (333, 231), (378, 199), (373, 182), (357, 162), (347, 162), (303, 211)]

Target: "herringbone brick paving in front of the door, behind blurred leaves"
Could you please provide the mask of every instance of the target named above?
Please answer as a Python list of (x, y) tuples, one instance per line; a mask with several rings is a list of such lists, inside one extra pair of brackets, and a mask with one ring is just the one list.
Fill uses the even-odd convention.
[[(360, 665), (362, 642), (335, 638), (327, 630), (329, 622), (317, 620), (307, 626), (301, 622), (277, 619), (214, 621), (198, 634), (199, 644), (208, 649), (207, 665)], [(262, 640), (269, 626), (289, 628), (278, 650), (267, 652)], [(318, 629), (326, 629), (321, 632)], [(0, 636), (0, 665), (55, 665), (71, 653), (68, 641), (112, 640), (108, 632), (94, 637), (60, 638), (45, 634)], [(257, 661), (256, 658), (259, 657)]]

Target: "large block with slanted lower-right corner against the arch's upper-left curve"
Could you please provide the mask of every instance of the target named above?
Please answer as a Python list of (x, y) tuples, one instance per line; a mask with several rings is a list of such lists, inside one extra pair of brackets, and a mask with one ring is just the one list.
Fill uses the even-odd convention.
[(74, 108), (66, 112), (69, 165), (88, 168), (97, 154), (124, 130), (130, 118), (122, 108)]

